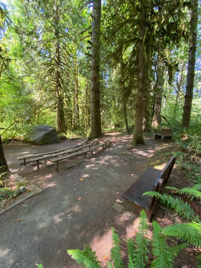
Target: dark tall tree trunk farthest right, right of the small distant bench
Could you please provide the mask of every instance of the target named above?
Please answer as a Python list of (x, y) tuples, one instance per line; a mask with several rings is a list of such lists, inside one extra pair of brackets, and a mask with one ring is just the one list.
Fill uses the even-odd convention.
[(189, 128), (191, 118), (191, 108), (193, 99), (193, 86), (196, 62), (197, 24), (198, 24), (198, 0), (191, 1), (190, 20), (190, 46), (188, 51), (188, 73), (186, 82), (185, 102), (183, 106), (183, 117), (181, 127)]

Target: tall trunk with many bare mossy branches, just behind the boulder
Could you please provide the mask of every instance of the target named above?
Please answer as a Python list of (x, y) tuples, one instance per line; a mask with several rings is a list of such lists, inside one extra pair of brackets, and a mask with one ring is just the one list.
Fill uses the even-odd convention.
[(55, 66), (56, 66), (56, 98), (57, 98), (57, 127), (59, 133), (66, 134), (65, 116), (63, 109), (63, 96), (61, 93), (61, 60), (60, 60), (60, 42), (59, 42), (59, 6), (55, 0), (54, 6), (54, 23), (55, 23)]

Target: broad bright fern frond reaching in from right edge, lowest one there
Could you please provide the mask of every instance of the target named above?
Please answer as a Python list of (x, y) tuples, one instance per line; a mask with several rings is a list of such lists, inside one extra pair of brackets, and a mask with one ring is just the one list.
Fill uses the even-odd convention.
[(168, 236), (175, 236), (193, 246), (201, 246), (201, 224), (197, 222), (175, 223), (163, 229)]

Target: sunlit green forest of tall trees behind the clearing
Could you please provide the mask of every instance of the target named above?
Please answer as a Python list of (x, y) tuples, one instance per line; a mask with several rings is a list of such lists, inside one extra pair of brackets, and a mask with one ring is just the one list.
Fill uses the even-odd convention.
[(90, 1), (1, 3), (3, 142), (43, 124), (93, 138), (136, 126), (133, 144), (199, 129), (198, 2), (102, 1), (94, 16)]

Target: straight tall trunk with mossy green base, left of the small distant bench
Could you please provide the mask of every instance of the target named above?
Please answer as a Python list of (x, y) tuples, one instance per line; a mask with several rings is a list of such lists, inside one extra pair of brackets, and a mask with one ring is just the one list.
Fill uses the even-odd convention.
[(135, 128), (133, 133), (132, 145), (138, 143), (145, 144), (142, 132), (143, 113), (144, 113), (144, 94), (145, 94), (145, 47), (144, 38), (146, 31), (146, 7), (145, 0), (140, 0), (140, 27), (139, 27), (139, 51), (138, 51), (138, 92), (136, 101)]

